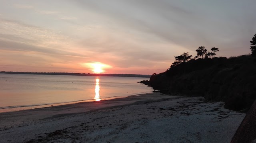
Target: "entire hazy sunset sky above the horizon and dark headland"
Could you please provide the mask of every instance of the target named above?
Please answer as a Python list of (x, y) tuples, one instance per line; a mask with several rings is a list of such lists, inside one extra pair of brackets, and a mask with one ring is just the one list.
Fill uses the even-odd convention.
[(153, 74), (251, 53), (255, 0), (0, 0), (0, 71)]

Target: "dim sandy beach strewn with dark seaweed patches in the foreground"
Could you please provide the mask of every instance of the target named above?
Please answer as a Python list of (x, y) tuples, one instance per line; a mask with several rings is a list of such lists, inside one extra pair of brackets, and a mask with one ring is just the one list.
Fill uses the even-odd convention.
[(229, 143), (245, 114), (160, 93), (0, 113), (0, 143)]

